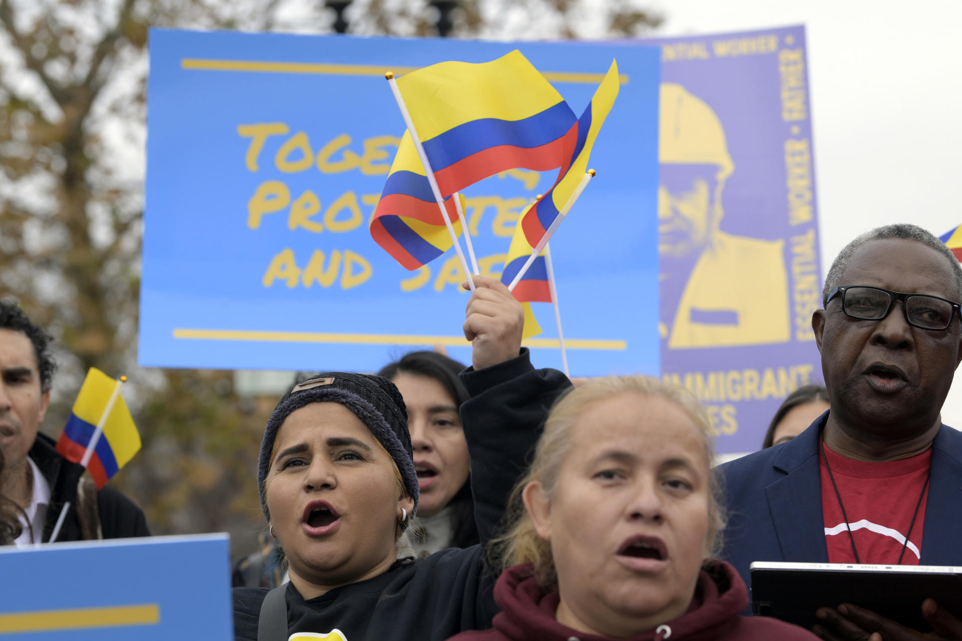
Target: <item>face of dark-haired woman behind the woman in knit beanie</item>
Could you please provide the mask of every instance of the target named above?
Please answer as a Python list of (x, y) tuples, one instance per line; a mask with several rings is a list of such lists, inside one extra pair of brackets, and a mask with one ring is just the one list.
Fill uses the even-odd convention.
[(432, 377), (398, 372), (392, 382), (408, 407), (408, 430), (420, 486), (418, 516), (433, 516), (468, 481), (468, 442), (458, 404)]

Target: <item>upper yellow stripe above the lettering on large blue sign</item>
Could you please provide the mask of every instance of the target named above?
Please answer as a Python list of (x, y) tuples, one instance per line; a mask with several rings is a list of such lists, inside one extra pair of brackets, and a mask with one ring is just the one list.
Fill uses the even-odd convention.
[[(259, 61), (215, 61), (198, 58), (181, 60), (181, 67), (195, 71), (254, 71), (259, 73), (309, 73), (327, 76), (380, 76), (392, 71), (395, 76), (415, 71), (418, 67), (392, 66), (384, 64), (318, 64), (315, 62), (259, 62)], [(603, 73), (581, 73), (579, 71), (542, 71), (544, 80), (549, 83), (570, 83), (573, 85), (597, 85), (604, 80)], [(620, 74), (621, 85), (628, 84), (628, 75)]]

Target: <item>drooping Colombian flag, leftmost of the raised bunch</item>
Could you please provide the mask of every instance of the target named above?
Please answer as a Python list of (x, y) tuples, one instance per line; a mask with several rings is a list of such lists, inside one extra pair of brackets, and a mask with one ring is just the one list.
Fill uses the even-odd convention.
[[(459, 197), (464, 211), (464, 196)], [(452, 198), (444, 201), (444, 209), (454, 233), (460, 236), (461, 220)], [(410, 132), (404, 132), (397, 148), (370, 221), (370, 235), (401, 265), (412, 270), (437, 259), (453, 244)]]

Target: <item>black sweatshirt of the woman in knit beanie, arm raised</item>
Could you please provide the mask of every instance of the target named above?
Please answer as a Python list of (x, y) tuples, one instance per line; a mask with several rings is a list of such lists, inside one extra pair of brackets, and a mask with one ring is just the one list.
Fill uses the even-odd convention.
[[(309, 601), (289, 583), (289, 634), (326, 635), (338, 630), (341, 637), (328, 638), (443, 641), (462, 630), (491, 627), (497, 612), (496, 577), (485, 564), (483, 546), (498, 533), (508, 496), (541, 435), (546, 409), (567, 381), (560, 372), (535, 370), (527, 349), (493, 367), (477, 372), (468, 368), (461, 380), (471, 397), (461, 407), (461, 422), (468, 441), (481, 545), (444, 550), (424, 559), (401, 559), (382, 575)], [(266, 593), (266, 588), (235, 588), (238, 641), (256, 641)]]

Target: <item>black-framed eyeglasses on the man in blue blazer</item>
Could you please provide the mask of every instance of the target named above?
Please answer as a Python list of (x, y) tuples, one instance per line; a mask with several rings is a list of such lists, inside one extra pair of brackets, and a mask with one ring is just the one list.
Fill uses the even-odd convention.
[(901, 301), (906, 322), (923, 330), (948, 329), (955, 311), (959, 309), (958, 303), (938, 296), (902, 294), (860, 284), (835, 287), (828, 295), (825, 305), (831, 303), (839, 294), (842, 295), (842, 311), (845, 315), (859, 320), (882, 320), (889, 315), (893, 303)]

